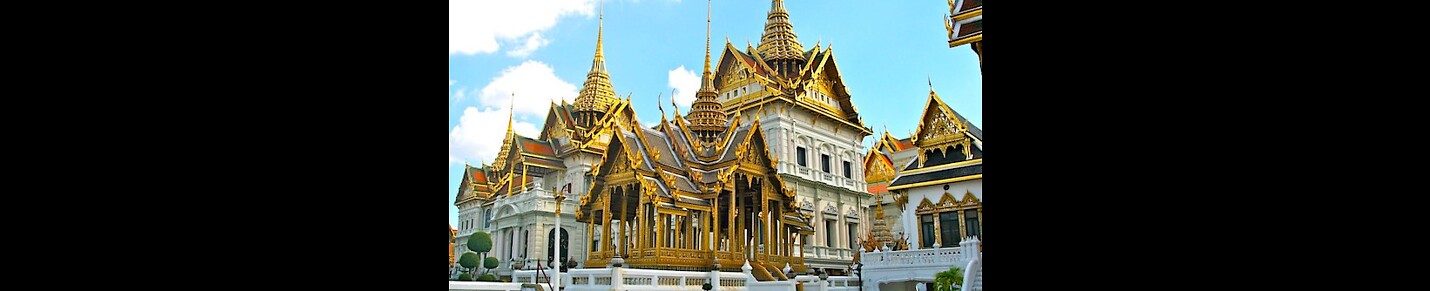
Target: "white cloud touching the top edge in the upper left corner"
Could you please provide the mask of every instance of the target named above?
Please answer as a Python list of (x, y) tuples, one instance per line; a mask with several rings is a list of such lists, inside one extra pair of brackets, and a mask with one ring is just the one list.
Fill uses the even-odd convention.
[(548, 43), (538, 33), (556, 26), (562, 16), (589, 17), (595, 11), (595, 0), (449, 0), (448, 53), (495, 53), (502, 43), (525, 42), (508, 53), (525, 56)]

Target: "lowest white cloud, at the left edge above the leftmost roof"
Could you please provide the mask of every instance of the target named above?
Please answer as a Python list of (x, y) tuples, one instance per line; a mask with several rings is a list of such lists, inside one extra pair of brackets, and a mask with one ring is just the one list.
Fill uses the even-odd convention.
[[(448, 162), (482, 165), (496, 159), (496, 153), (502, 151), (502, 140), (506, 139), (508, 116), (503, 108), (480, 110), (468, 106), (462, 112), (460, 122), (448, 135)], [(529, 138), (538, 135), (536, 125), (529, 122), (515, 120), (512, 130)]]

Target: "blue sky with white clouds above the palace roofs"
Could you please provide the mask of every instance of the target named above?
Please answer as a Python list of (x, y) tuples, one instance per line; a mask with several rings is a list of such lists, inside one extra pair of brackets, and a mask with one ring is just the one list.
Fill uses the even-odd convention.
[[(659, 120), (676, 89), (681, 112), (699, 86), (705, 56), (705, 7), (699, 0), (606, 0), (605, 57), (621, 97), (631, 95), (638, 119)], [(726, 39), (759, 46), (769, 1), (718, 0), (711, 9), (711, 57)], [(834, 57), (864, 123), (907, 138), (928, 97), (928, 77), (954, 110), (982, 128), (982, 75), (967, 46), (950, 49), (941, 0), (786, 0), (805, 49), (832, 43)], [(515, 103), (515, 129), (536, 136), (552, 100), (572, 100), (591, 70), (596, 44), (595, 0), (449, 1), (448, 168), (450, 202), (463, 162), (490, 163)], [(512, 95), (515, 93), (515, 100)], [(656, 96), (659, 95), (659, 100)], [(865, 138), (871, 145), (874, 136)]]

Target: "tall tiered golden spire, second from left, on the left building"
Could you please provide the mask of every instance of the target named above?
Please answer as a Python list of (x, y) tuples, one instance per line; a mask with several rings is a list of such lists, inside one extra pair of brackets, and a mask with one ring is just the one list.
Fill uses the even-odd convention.
[(586, 82), (581, 85), (581, 95), (576, 96), (576, 125), (591, 128), (592, 123), (605, 116), (606, 109), (618, 102), (615, 89), (611, 86), (611, 73), (606, 72), (606, 57), (603, 53), (605, 34), (605, 6), (601, 7), (601, 20), (596, 24), (596, 54), (591, 60), (591, 72)]

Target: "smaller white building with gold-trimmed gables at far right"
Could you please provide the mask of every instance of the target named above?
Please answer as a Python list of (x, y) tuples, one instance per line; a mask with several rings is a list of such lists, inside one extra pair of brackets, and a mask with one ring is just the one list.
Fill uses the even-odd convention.
[[(937, 272), (965, 269), (982, 290), (982, 129), (930, 87), (912, 136), (884, 136), (868, 155), (869, 192), (878, 195), (894, 238), (861, 255), (865, 290), (927, 288)], [(904, 242), (902, 248), (895, 247)]]

